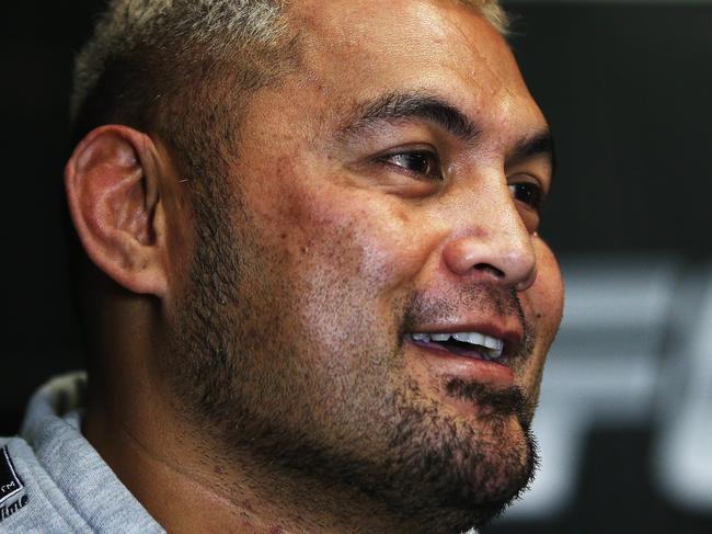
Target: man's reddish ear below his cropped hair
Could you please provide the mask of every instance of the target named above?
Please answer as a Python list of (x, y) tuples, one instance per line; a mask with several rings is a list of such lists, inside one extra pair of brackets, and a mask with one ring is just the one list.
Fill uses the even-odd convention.
[(65, 170), (69, 213), (89, 258), (137, 294), (168, 287), (158, 151), (145, 134), (102, 126), (74, 149)]

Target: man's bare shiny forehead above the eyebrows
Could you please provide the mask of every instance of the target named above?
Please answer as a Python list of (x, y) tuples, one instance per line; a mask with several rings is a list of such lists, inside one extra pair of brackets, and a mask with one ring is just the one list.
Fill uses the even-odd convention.
[(544, 124), (504, 38), (453, 0), (296, 2), (302, 73), (322, 101), (348, 106), (380, 93), (443, 94), (486, 126)]

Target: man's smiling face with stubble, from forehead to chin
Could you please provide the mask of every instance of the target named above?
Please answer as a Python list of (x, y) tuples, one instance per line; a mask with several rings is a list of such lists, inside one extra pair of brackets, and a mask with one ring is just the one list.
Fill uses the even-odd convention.
[(301, 69), (256, 94), (196, 209), (174, 371), (236, 451), (450, 532), (535, 462), (563, 293), (536, 234), (547, 124), (483, 19), (384, 5), (291, 8)]

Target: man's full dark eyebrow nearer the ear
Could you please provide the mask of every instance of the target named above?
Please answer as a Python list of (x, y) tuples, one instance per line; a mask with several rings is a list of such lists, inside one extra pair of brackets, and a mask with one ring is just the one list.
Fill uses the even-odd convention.
[(422, 93), (388, 93), (356, 106), (338, 133), (351, 137), (379, 123), (395, 123), (420, 118), (434, 123), (450, 135), (474, 141), (480, 128), (451, 103), (439, 96)]

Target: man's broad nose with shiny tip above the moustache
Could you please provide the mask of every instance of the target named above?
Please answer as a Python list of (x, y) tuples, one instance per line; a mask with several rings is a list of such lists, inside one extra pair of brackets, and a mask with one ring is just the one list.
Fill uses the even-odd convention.
[(529, 232), (508, 194), (506, 202), (490, 206), (467, 211), (467, 223), (443, 250), (444, 262), (458, 276), (525, 291), (537, 279), (536, 235)]

